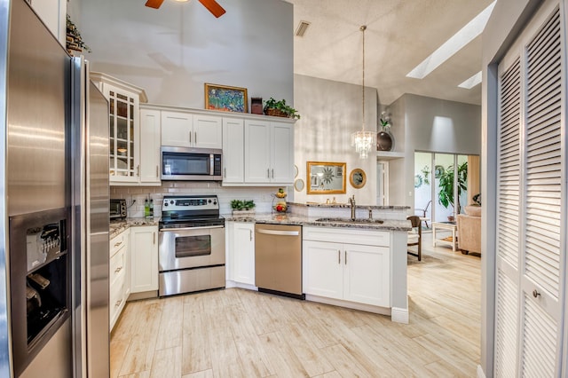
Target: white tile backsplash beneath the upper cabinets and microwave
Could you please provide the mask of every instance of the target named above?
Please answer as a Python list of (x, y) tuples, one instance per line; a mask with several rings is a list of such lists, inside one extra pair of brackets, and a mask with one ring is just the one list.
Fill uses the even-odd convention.
[[(272, 210), (274, 187), (233, 187), (221, 186), (217, 182), (163, 181), (162, 186), (111, 186), (110, 198), (125, 199), (128, 217), (144, 217), (144, 202), (154, 200), (154, 217), (162, 216), (164, 195), (217, 194), (221, 214), (231, 213), (232, 200), (253, 200), (257, 213), (270, 213)], [(286, 188), (289, 193), (289, 188)], [(291, 199), (290, 199), (291, 201)]]

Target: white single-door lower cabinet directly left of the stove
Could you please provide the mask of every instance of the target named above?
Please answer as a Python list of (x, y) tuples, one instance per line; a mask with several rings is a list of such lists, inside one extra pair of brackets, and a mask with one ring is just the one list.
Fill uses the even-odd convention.
[(142, 293), (158, 289), (158, 226), (130, 228), (130, 289)]

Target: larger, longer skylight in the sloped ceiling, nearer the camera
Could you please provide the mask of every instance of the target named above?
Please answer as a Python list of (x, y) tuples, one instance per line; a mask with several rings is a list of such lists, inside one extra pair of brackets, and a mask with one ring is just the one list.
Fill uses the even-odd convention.
[(482, 12), (477, 14), (473, 20), (470, 20), (460, 31), (438, 47), (438, 50), (432, 52), (421, 64), (414, 67), (412, 71), (406, 74), (406, 77), (423, 79), (427, 75), (430, 75), (432, 71), (438, 68), (447, 59), (450, 59), (457, 51), (460, 51), (464, 46), (473, 41), (485, 28), (485, 24), (493, 11), (493, 6), (495, 6), (494, 1)]

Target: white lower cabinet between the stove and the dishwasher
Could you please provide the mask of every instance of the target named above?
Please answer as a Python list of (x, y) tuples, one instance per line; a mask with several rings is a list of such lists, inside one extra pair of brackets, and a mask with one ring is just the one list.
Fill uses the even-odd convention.
[(229, 270), (228, 280), (235, 284), (255, 286), (255, 224), (229, 222)]

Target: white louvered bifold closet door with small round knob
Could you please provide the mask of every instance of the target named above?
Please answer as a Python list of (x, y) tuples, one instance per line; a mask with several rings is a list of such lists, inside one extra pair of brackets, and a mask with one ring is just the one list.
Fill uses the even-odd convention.
[(495, 376), (560, 374), (565, 258), (560, 23), (558, 7), (548, 2), (500, 65)]

